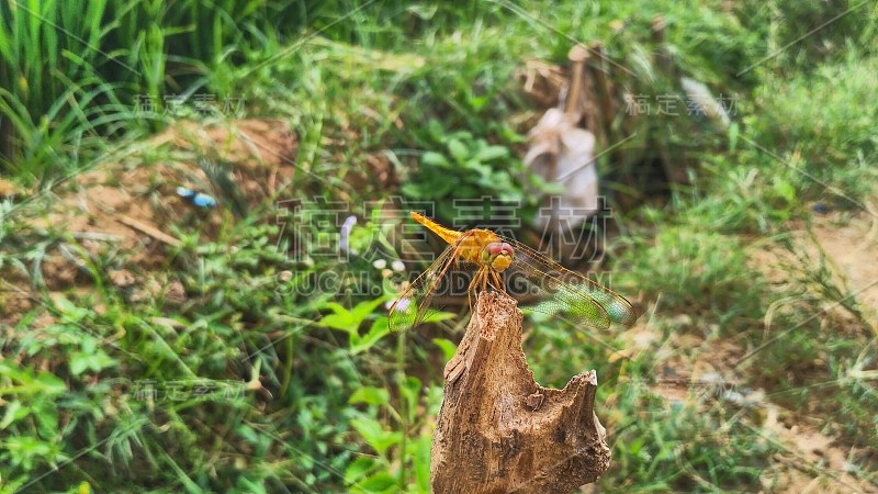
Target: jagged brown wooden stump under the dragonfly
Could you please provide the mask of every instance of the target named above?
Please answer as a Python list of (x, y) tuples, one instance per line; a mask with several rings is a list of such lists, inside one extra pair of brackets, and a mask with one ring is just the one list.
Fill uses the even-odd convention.
[(446, 366), (430, 461), (435, 493), (566, 493), (609, 467), (594, 413), (595, 371), (561, 391), (537, 384), (521, 350), (521, 317), (504, 294), (479, 296)]

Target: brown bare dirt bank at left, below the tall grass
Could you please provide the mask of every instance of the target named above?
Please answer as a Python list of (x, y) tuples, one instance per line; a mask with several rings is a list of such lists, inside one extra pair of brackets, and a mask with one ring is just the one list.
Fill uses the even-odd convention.
[[(175, 159), (151, 159), (159, 148)], [(120, 288), (151, 292), (145, 296), (184, 297), (179, 281), (153, 273), (167, 267), (172, 248), (181, 245), (175, 228), (199, 228), (200, 235), (214, 238), (216, 226), (233, 216), (227, 202), (255, 207), (271, 202), (293, 180), (296, 153), (296, 136), (282, 121), (181, 122), (124, 161), (101, 162), (58, 186), (44, 210), (34, 207), (20, 233), (55, 232), (69, 238), (47, 249), (40, 263), (40, 279), (49, 293), (92, 287), (82, 257), (74, 251), (81, 248), (92, 258), (119, 259), (110, 280)], [(215, 173), (225, 178), (219, 182), (230, 183), (235, 197), (216, 186), (204, 164), (219, 170)], [(218, 206), (196, 207), (177, 193), (178, 187), (210, 194)], [(33, 277), (12, 267), (0, 274), (0, 316), (15, 324), (37, 300), (31, 293)]]

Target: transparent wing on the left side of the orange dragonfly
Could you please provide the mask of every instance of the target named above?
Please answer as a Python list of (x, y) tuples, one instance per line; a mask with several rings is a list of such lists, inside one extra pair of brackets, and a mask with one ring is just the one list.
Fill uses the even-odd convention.
[(426, 271), (412, 282), (408, 289), (396, 297), (387, 316), (391, 332), (407, 332), (431, 314), (439, 312), (431, 307), (430, 303), (436, 294), (436, 289), (446, 273), (450, 271), (449, 268), (453, 262), (454, 247), (449, 246)]

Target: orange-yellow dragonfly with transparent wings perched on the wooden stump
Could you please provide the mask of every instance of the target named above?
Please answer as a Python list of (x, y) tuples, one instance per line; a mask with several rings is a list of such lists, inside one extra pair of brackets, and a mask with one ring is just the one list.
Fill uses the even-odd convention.
[(489, 229), (458, 232), (420, 213), (410, 214), (449, 246), (396, 297), (389, 315), (392, 332), (408, 330), (439, 312), (434, 301), (452, 266), (474, 271), (466, 289), (471, 312), (479, 292), (494, 290), (536, 300), (533, 311), (600, 329), (612, 323), (631, 326), (638, 318), (623, 296), (519, 242)]

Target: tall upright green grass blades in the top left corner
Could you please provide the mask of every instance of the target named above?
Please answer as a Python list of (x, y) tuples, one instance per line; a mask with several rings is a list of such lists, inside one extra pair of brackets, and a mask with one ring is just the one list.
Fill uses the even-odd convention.
[[(191, 100), (223, 60), (269, 35), (300, 32), (320, 4), (100, 0), (83, 9), (4, 2), (0, 168), (27, 186), (48, 184), (105, 155), (109, 143), (101, 137), (160, 128), (171, 104), (166, 97)], [(138, 109), (144, 101), (151, 111)]]

